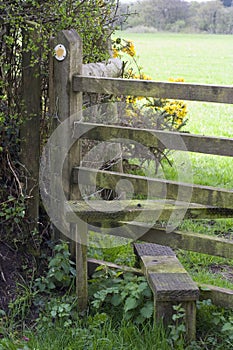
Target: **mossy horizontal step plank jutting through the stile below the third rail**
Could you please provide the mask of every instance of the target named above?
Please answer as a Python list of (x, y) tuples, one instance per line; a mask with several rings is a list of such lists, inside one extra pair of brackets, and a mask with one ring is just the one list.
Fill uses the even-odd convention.
[[(112, 201), (69, 201), (67, 203), (66, 220), (75, 223), (77, 218), (73, 213), (88, 223), (113, 221), (140, 221), (155, 222), (168, 221), (171, 214), (179, 215), (185, 210), (186, 219), (207, 219), (233, 217), (233, 209), (219, 211), (218, 208), (205, 207), (198, 204), (176, 203), (156, 200), (112, 200)], [(110, 225), (111, 226), (111, 225)]]

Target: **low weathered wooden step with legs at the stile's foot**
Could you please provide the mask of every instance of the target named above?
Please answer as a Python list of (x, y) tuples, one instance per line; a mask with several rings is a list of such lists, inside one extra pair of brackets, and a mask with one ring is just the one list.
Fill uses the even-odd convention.
[(164, 325), (172, 323), (173, 306), (181, 304), (185, 310), (186, 336), (196, 335), (196, 305), (199, 289), (181, 265), (174, 252), (157, 244), (134, 244), (142, 269), (154, 294), (155, 318)]

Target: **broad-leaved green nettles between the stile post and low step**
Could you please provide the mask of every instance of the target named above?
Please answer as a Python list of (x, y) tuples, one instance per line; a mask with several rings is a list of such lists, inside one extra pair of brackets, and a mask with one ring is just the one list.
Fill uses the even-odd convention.
[(97, 268), (91, 282), (91, 305), (96, 310), (120, 310), (119, 316), (136, 324), (153, 316), (152, 292), (145, 277)]

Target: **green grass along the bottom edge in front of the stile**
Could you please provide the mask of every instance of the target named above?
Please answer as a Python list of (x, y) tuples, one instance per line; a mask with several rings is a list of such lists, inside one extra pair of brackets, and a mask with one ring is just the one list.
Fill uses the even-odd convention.
[[(94, 317), (94, 318), (98, 318)], [(85, 324), (82, 320), (70, 328), (56, 324), (41, 332), (25, 329), (25, 340), (15, 337), (0, 339), (0, 350), (169, 350), (167, 335), (162, 327), (146, 323), (140, 328), (122, 321), (113, 325), (110, 317)], [(100, 317), (99, 317), (100, 319)], [(183, 343), (184, 344), (184, 343)], [(25, 346), (25, 347), (24, 347)], [(184, 349), (183, 345), (180, 349)]]

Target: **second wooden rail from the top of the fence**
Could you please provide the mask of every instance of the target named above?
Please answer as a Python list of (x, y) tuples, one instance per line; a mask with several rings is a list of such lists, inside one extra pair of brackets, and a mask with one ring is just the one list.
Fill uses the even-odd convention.
[[(75, 123), (74, 134), (92, 140), (108, 141), (125, 139), (146, 147), (181, 150), (233, 157), (233, 138), (212, 137), (153, 129), (123, 127), (92, 123)], [(122, 142), (122, 140), (121, 140)], [(162, 146), (162, 147), (161, 147)]]

